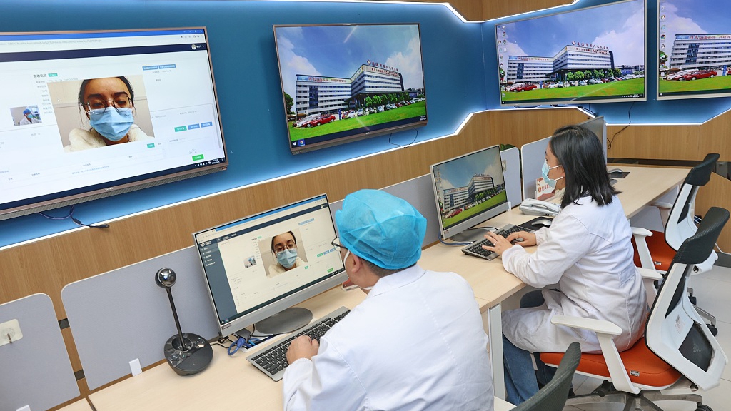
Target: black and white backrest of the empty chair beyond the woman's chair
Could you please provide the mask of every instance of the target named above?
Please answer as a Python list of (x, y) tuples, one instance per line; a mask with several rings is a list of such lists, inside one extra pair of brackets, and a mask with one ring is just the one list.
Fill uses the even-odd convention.
[(665, 223), (665, 241), (676, 251), (686, 238), (691, 237), (697, 231), (693, 219), (695, 197), (698, 187), (705, 186), (711, 180), (713, 165), (716, 164), (719, 157), (719, 154), (716, 153), (707, 154), (699, 165), (693, 167), (683, 181), (678, 197), (675, 198), (673, 209)]

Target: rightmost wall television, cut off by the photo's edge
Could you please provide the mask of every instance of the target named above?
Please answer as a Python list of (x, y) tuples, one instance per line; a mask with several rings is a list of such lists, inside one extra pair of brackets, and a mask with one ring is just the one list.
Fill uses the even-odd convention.
[(659, 0), (658, 99), (731, 96), (731, 17), (723, 0)]

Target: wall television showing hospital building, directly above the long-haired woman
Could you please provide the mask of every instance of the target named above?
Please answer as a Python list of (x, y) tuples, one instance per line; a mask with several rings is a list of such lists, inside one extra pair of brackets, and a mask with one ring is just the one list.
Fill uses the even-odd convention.
[(503, 106), (644, 101), (645, 0), (495, 25)]

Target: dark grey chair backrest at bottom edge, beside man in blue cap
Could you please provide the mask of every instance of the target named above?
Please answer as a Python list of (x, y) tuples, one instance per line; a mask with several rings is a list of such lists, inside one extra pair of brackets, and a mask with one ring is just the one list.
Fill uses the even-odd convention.
[(566, 350), (564, 358), (558, 364), (553, 379), (544, 385), (534, 396), (518, 405), (512, 411), (561, 411), (564, 409), (569, 396), (571, 380), (581, 359), (581, 349), (578, 342), (572, 342)]

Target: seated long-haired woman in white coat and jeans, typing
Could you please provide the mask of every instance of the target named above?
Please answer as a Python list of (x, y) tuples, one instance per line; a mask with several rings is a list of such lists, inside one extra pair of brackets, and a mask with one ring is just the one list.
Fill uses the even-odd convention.
[[(614, 340), (620, 351), (642, 336), (647, 315), (642, 276), (632, 262), (632, 230), (596, 135), (580, 126), (556, 130), (546, 149), (543, 178), (557, 191), (564, 190), (553, 224), (507, 238), (485, 236), (495, 244), (485, 248), (501, 254), (507, 271), (543, 288), (534, 292), (539, 295), (526, 295), (523, 308), (502, 315), (505, 385), (513, 404), (529, 399), (539, 383), (553, 377), (554, 369), (538, 355), (534, 373), (530, 352), (563, 352), (575, 341), (582, 352), (600, 350), (595, 333), (553, 325), (554, 315), (615, 323), (622, 329)], [(538, 247), (532, 254), (523, 249), (534, 245)]]

